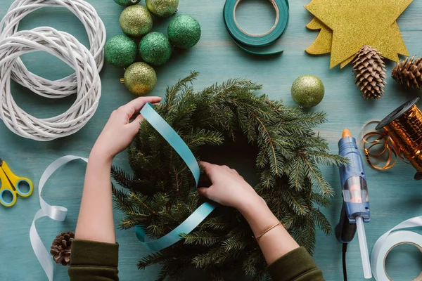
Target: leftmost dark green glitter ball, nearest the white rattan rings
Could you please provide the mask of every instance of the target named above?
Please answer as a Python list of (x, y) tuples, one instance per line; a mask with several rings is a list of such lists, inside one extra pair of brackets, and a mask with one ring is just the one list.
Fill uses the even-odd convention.
[(136, 43), (124, 35), (110, 38), (104, 47), (104, 57), (115, 67), (132, 65), (136, 59), (136, 52)]

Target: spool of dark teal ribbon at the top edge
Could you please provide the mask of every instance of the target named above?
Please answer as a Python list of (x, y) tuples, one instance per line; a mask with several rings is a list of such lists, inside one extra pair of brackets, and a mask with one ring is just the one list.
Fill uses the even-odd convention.
[(274, 55), (282, 53), (279, 46), (274, 45), (280, 39), (288, 25), (288, 0), (268, 0), (276, 9), (276, 22), (271, 30), (264, 34), (250, 34), (242, 30), (236, 21), (236, 7), (241, 0), (226, 0), (223, 9), (224, 23), (233, 41), (244, 51), (254, 55)]

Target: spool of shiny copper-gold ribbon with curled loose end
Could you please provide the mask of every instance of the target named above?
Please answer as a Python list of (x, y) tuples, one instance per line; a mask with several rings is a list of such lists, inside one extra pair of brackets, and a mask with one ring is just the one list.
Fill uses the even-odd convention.
[[(397, 108), (378, 126), (384, 132), (371, 132), (363, 137), (366, 161), (374, 169), (385, 170), (394, 166), (397, 158), (409, 162), (416, 169), (416, 180), (422, 179), (422, 112), (416, 106), (418, 98)], [(379, 136), (376, 141), (369, 138)], [(381, 152), (372, 153), (371, 150), (383, 145)], [(380, 157), (388, 153), (388, 160), (383, 167), (372, 164), (370, 157)], [(393, 161), (395, 157), (395, 161)]]

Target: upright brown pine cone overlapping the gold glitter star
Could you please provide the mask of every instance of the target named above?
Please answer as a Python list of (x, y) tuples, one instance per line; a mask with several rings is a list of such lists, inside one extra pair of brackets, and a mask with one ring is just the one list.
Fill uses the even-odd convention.
[(386, 71), (383, 56), (371, 46), (363, 46), (353, 59), (354, 83), (364, 98), (381, 98), (384, 95)]

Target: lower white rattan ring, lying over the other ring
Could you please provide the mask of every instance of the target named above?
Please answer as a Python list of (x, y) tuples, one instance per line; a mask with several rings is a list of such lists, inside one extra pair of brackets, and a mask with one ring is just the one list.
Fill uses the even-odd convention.
[[(75, 103), (56, 117), (37, 119), (18, 107), (11, 95), (13, 66), (20, 55), (34, 51), (51, 53), (75, 70)], [(100, 96), (101, 80), (94, 56), (72, 35), (51, 27), (38, 27), (0, 40), (0, 118), (19, 136), (36, 141), (69, 136), (91, 119)]]

